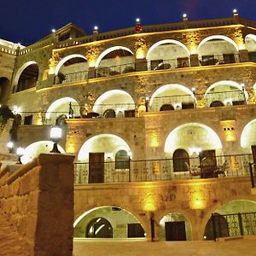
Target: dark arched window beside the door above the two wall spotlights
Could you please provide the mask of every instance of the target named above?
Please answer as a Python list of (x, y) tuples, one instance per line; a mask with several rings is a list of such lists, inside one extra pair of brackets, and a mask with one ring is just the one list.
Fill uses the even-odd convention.
[(177, 149), (173, 153), (173, 172), (189, 171), (189, 154), (184, 149)]

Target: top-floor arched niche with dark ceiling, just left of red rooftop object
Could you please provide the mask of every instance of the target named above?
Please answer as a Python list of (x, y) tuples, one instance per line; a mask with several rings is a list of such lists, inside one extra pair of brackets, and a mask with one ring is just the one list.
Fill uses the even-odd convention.
[(113, 46), (102, 52), (96, 60), (96, 76), (106, 77), (135, 71), (134, 56), (131, 49)]

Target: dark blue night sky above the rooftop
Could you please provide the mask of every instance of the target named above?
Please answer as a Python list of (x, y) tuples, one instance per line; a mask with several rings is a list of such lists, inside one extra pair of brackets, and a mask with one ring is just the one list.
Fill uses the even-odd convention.
[(69, 22), (91, 34), (142, 24), (231, 17), (236, 8), (241, 17), (256, 20), (256, 0), (5, 0), (0, 1), (0, 38), (32, 44)]

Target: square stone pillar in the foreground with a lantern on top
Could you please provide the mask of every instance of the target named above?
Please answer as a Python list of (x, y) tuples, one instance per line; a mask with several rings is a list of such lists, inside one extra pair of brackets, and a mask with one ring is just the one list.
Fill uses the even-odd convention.
[(40, 154), (34, 255), (73, 255), (73, 155)]

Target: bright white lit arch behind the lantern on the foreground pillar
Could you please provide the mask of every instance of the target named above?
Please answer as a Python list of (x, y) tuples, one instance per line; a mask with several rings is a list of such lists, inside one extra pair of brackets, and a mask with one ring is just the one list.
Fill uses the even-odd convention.
[[(54, 146), (54, 143), (51, 141), (39, 141), (36, 143), (32, 143), (28, 145), (24, 149), (24, 154), (21, 156), (20, 160), (22, 164), (26, 164), (33, 160), (34, 158), (38, 157), (39, 154), (49, 154)], [(61, 153), (65, 153), (65, 150), (58, 144), (58, 149)]]

